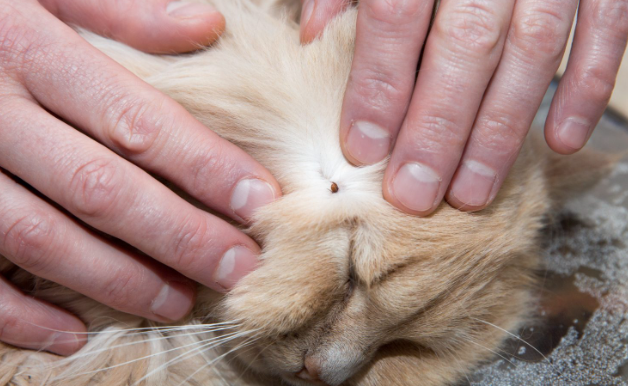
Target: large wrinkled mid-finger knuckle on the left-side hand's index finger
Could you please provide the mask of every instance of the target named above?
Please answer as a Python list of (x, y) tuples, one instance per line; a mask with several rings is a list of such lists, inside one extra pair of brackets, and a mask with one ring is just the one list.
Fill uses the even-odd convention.
[[(113, 145), (127, 156), (145, 154), (154, 147), (160, 130), (155, 122), (153, 109), (136, 100), (116, 100), (107, 111), (118, 111), (113, 124), (106, 129)], [(157, 104), (159, 105), (159, 104)]]

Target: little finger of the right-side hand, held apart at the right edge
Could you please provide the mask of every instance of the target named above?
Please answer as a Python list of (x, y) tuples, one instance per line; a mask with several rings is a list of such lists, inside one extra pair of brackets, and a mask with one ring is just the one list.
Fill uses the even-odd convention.
[(583, 0), (567, 70), (545, 123), (549, 146), (561, 154), (588, 141), (615, 87), (628, 39), (628, 1)]

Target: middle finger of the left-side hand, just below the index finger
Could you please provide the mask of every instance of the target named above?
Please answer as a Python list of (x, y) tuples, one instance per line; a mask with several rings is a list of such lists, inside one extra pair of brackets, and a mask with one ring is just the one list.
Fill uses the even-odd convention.
[(242, 232), (34, 103), (0, 108), (0, 165), (87, 224), (216, 290), (257, 263), (259, 247)]

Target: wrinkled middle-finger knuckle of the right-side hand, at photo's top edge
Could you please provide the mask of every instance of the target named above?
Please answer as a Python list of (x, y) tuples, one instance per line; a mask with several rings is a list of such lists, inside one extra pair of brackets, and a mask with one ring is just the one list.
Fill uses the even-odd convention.
[(443, 12), (434, 27), (441, 39), (485, 55), (498, 47), (504, 28), (495, 11), (477, 0), (461, 4), (452, 12)]

